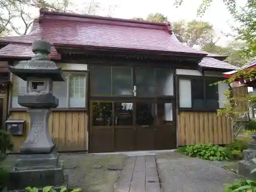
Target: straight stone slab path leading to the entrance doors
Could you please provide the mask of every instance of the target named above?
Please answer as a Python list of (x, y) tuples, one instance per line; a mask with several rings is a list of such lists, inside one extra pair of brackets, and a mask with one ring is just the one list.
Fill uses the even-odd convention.
[(159, 192), (155, 156), (128, 157), (114, 192)]

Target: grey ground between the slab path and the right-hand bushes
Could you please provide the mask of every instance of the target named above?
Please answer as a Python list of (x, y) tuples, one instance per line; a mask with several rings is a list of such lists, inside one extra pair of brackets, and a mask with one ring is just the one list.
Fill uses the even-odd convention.
[(224, 184), (241, 179), (221, 168), (225, 163), (170, 153), (156, 154), (163, 192), (222, 192)]

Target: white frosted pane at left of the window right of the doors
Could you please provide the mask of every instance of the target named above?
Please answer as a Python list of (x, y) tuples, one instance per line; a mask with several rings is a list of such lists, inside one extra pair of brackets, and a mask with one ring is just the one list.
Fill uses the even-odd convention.
[(179, 80), (180, 108), (191, 108), (191, 81), (188, 79)]

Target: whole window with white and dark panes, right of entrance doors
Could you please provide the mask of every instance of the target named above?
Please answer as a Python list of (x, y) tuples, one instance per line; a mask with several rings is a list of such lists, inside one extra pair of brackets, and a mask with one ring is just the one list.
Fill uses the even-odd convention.
[(228, 90), (227, 83), (209, 86), (219, 81), (207, 77), (178, 78), (179, 107), (194, 110), (217, 110), (224, 108), (224, 92)]

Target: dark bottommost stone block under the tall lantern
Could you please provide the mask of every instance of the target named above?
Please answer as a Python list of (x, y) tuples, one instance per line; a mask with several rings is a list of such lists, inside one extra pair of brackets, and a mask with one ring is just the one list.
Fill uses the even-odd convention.
[(7, 189), (24, 189), (27, 186), (42, 188), (45, 186), (62, 186), (65, 181), (63, 165), (57, 168), (12, 170)]

